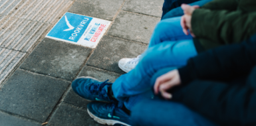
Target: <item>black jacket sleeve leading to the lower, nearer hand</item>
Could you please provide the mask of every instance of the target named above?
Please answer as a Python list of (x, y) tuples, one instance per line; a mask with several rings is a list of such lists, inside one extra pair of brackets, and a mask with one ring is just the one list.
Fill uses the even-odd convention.
[(179, 68), (183, 84), (192, 80), (228, 80), (248, 74), (256, 64), (256, 34), (240, 44), (207, 50)]

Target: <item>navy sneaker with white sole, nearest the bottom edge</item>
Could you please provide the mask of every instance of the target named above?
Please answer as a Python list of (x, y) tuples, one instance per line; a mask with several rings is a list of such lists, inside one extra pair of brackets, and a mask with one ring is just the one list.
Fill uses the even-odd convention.
[(130, 115), (115, 103), (91, 102), (87, 111), (95, 121), (103, 125), (130, 126)]

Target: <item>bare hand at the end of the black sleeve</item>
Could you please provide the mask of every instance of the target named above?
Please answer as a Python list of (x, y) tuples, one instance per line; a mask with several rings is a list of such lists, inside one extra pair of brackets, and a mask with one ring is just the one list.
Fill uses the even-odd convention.
[(155, 94), (161, 92), (165, 99), (171, 99), (172, 94), (168, 93), (168, 90), (178, 85), (180, 85), (180, 74), (178, 70), (172, 70), (156, 79), (154, 92)]

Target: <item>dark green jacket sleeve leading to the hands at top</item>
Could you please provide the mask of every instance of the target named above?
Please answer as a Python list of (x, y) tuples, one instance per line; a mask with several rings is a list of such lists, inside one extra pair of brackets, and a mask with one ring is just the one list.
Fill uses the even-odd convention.
[(199, 39), (232, 44), (253, 35), (256, 32), (255, 21), (256, 11), (196, 9), (192, 15), (192, 31)]

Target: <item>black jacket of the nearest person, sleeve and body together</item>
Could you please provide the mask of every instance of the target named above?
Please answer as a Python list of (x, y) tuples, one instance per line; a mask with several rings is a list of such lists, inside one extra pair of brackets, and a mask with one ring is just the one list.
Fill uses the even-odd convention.
[[(178, 69), (182, 86), (172, 91), (173, 100), (220, 125), (256, 125), (255, 65), (256, 35), (241, 44), (203, 52)], [(243, 82), (213, 81), (243, 74), (250, 74)]]

